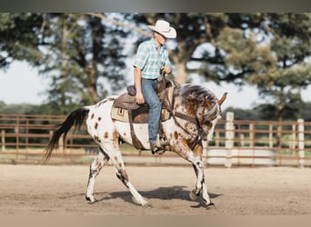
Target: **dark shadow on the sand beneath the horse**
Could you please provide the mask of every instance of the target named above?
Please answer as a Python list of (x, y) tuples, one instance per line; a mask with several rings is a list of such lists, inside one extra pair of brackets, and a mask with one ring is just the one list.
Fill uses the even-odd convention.
[[(186, 190), (186, 188), (187, 187), (183, 185), (177, 185), (173, 187), (159, 187), (151, 191), (140, 191), (140, 194), (146, 199), (159, 199), (163, 201), (176, 199), (176, 200), (191, 202), (189, 198), (190, 191)], [(209, 192), (208, 194), (211, 199), (222, 195), (222, 194), (211, 193), (211, 192)], [(98, 198), (99, 195), (101, 195), (102, 198)], [(121, 198), (125, 202), (138, 205), (138, 203), (133, 201), (132, 194), (128, 191), (104, 193), (104, 196), (103, 196), (103, 192), (95, 192), (95, 196), (97, 197), (96, 202), (109, 201), (112, 199)], [(201, 199), (199, 199), (198, 202), (203, 205)]]

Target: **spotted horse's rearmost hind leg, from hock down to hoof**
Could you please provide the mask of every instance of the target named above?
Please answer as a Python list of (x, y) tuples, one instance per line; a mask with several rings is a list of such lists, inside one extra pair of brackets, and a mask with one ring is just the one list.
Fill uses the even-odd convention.
[(85, 193), (85, 199), (90, 203), (96, 202), (94, 198), (95, 178), (100, 173), (105, 163), (109, 161), (109, 156), (105, 153), (105, 151), (100, 147), (99, 149), (100, 152), (98, 153), (98, 156), (90, 165), (90, 173), (88, 176), (87, 189)]

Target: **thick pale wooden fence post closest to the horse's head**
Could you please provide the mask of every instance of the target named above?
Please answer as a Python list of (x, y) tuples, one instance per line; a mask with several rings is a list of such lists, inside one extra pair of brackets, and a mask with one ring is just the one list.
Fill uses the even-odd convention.
[(232, 166), (232, 149), (234, 147), (234, 113), (226, 113), (226, 162), (225, 166), (231, 168)]

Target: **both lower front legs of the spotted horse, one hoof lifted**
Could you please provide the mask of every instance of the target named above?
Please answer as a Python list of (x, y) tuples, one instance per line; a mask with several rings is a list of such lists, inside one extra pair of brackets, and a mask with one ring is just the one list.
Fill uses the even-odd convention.
[(193, 164), (193, 167), (196, 172), (196, 189), (194, 189), (189, 193), (190, 199), (192, 201), (197, 201), (200, 192), (202, 192), (202, 199), (204, 204), (206, 205), (206, 208), (209, 207), (210, 205), (214, 205), (208, 194), (205, 182), (204, 163), (202, 159), (192, 152), (188, 153), (187, 156), (188, 160)]

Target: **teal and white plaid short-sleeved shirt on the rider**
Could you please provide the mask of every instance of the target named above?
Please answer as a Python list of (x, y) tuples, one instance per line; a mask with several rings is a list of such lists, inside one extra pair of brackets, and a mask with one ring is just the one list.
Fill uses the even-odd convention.
[(171, 65), (165, 44), (161, 46), (160, 52), (154, 39), (139, 44), (134, 66), (142, 69), (143, 78), (157, 79), (160, 77), (161, 68), (165, 65)]

